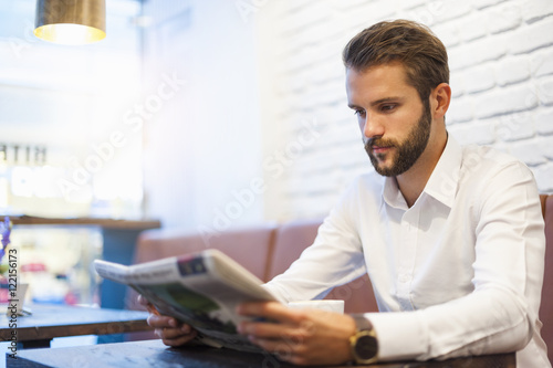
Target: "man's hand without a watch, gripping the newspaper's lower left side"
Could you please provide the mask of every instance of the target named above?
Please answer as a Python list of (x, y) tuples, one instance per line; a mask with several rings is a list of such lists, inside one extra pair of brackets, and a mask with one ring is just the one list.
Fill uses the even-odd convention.
[(163, 339), (165, 345), (182, 346), (196, 337), (196, 329), (173, 317), (159, 315), (157, 309), (142, 295), (138, 295), (138, 303), (148, 309), (148, 325), (155, 328), (156, 335)]

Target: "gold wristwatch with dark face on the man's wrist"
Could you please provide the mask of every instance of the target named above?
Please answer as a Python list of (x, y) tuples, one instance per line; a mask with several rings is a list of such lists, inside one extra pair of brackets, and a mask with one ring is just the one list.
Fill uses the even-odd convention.
[(378, 360), (378, 339), (371, 320), (362, 314), (352, 315), (357, 332), (349, 337), (352, 355), (357, 365), (369, 365)]

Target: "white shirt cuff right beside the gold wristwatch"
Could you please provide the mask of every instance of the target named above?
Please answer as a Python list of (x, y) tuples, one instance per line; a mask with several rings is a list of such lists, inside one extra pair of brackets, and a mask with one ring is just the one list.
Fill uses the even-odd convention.
[(428, 353), (428, 332), (417, 312), (365, 313), (378, 339), (378, 360), (416, 359)]

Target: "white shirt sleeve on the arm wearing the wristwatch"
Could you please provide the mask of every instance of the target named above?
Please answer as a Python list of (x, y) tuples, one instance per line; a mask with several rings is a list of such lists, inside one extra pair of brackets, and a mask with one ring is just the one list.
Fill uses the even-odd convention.
[(425, 309), (366, 314), (382, 360), (515, 351), (532, 338), (545, 245), (539, 192), (519, 162), (481, 182), (467, 220), (474, 222), (473, 292)]

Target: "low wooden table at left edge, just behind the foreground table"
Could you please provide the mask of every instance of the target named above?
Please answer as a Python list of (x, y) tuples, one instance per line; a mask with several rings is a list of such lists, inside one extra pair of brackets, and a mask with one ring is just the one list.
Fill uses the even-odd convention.
[(50, 341), (54, 337), (111, 335), (152, 329), (146, 322), (147, 312), (64, 305), (29, 307), (32, 315), (18, 317), (14, 322), (6, 315), (2, 307), (1, 341), (15, 340), (22, 348), (50, 347)]

